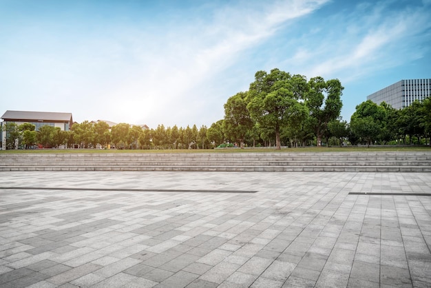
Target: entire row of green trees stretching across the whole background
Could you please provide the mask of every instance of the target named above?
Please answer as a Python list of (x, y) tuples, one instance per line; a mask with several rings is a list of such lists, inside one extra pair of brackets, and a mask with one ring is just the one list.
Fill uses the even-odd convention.
[(431, 136), (431, 99), (403, 110), (364, 101), (350, 123), (341, 119), (338, 79), (306, 76), (278, 69), (258, 71), (249, 90), (229, 97), (224, 118), (211, 127), (165, 127), (143, 130), (103, 121), (58, 127), (7, 123), (7, 147), (116, 147), (117, 149), (211, 149), (215, 147), (298, 147), (309, 145), (424, 144)]

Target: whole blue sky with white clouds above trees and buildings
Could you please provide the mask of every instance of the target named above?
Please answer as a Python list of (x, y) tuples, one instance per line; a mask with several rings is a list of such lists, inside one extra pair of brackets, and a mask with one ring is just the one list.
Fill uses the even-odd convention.
[[(0, 113), (207, 125), (258, 70), (366, 96), (431, 77), (431, 0), (0, 0)], [(3, 109), (1, 109), (3, 108)]]

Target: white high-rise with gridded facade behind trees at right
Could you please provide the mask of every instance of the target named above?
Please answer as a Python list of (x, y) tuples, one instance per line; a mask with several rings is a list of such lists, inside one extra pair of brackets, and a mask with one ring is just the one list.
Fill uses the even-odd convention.
[(401, 80), (389, 85), (382, 90), (367, 96), (367, 100), (380, 104), (385, 101), (395, 109), (403, 109), (411, 105), (415, 100), (431, 96), (431, 79)]

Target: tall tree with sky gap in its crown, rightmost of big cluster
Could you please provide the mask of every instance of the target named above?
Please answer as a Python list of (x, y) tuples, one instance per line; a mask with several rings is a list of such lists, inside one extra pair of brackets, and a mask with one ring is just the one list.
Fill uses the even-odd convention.
[(341, 112), (344, 87), (338, 79), (324, 81), (320, 76), (310, 79), (308, 85), (306, 106), (311, 116), (311, 127), (317, 137), (317, 146), (321, 146), (328, 123), (337, 119)]

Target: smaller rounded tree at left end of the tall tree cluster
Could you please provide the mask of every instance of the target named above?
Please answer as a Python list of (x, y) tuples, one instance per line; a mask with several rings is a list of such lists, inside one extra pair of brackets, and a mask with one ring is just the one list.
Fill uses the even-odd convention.
[(223, 130), (227, 138), (240, 141), (240, 147), (244, 147), (244, 138), (253, 127), (249, 110), (247, 110), (247, 93), (239, 92), (231, 96), (224, 104)]

